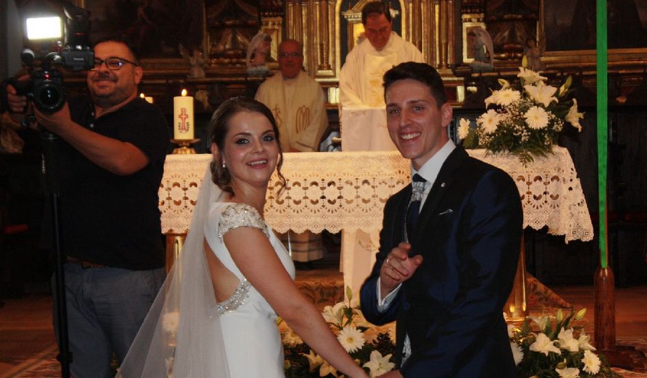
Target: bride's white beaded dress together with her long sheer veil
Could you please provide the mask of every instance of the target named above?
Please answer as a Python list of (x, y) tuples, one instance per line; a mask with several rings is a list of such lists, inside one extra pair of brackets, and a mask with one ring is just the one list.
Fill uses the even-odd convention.
[[(222, 201), (222, 190), (204, 173), (182, 252), (151, 306), (119, 378), (284, 377), (277, 315), (233, 263), (222, 235), (255, 227), (269, 238), (292, 278), (295, 267), (282, 243), (254, 208)], [(204, 240), (241, 282), (228, 300), (216, 302)], [(253, 248), (253, 245), (250, 245)]]

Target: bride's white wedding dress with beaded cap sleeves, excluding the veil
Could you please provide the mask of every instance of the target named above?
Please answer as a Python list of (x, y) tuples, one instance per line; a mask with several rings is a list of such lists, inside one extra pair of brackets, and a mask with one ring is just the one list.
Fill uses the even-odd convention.
[[(204, 236), (220, 262), (240, 280), (231, 298), (218, 303), (222, 339), (231, 377), (285, 377), (277, 315), (233, 262), (222, 235), (237, 227), (255, 227), (270, 239), (281, 263), (294, 279), (295, 267), (285, 247), (256, 210), (244, 203), (211, 204)], [(251, 246), (253, 247), (253, 246)]]

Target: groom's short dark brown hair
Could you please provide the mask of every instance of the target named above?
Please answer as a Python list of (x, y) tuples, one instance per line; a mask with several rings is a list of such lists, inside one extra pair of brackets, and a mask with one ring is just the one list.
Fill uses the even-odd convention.
[(405, 62), (386, 71), (383, 76), (384, 96), (394, 82), (405, 79), (416, 80), (429, 87), (438, 108), (447, 102), (447, 93), (445, 93), (441, 75), (427, 63)]

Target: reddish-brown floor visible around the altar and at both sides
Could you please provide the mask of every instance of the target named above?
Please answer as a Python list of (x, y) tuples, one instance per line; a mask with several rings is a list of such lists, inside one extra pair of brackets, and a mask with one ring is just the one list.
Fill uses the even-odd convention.
[[(338, 271), (297, 271), (298, 279), (318, 276), (341, 277)], [(551, 287), (575, 309), (586, 307), (587, 333), (593, 333), (595, 293), (592, 286)], [(647, 285), (615, 290), (615, 323), (617, 340), (647, 340)], [(0, 308), (0, 376), (30, 356), (51, 347), (52, 298), (32, 294), (28, 298), (3, 300)]]

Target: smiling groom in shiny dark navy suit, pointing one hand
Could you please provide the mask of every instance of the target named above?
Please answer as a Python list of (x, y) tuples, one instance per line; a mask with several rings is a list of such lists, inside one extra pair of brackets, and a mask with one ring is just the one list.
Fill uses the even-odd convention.
[(369, 322), (397, 320), (399, 370), (384, 377), (516, 377), (502, 310), (520, 249), (518, 190), (448, 140), (452, 107), (436, 69), (402, 63), (384, 89), (390, 137), (414, 177), (385, 205), (361, 288)]

